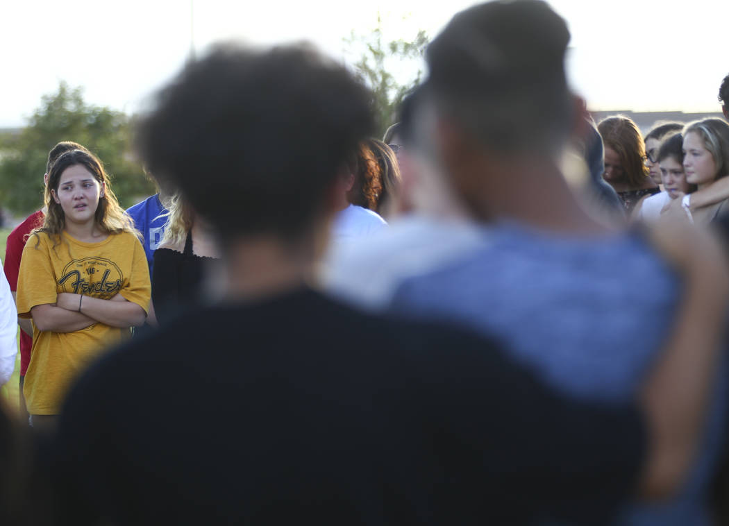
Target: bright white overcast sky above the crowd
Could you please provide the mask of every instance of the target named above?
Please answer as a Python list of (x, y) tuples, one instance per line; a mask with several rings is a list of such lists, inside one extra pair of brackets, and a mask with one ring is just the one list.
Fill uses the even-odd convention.
[[(386, 39), (440, 31), (473, 1), (0, 0), (0, 127), (26, 124), (58, 82), (130, 114), (211, 43), (308, 40), (340, 60), (343, 39), (383, 20)], [(729, 1), (553, 0), (572, 32), (572, 85), (593, 110), (718, 111), (729, 73)], [(68, 7), (60, 8), (61, 5)], [(428, 7), (426, 7), (426, 5)]]

